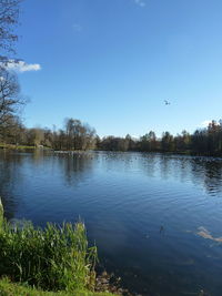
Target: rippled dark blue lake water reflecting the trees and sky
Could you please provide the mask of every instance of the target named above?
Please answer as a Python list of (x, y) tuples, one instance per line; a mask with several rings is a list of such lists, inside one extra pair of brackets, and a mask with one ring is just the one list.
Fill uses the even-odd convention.
[(221, 159), (1, 152), (0, 195), (8, 218), (80, 217), (131, 292), (222, 295)]

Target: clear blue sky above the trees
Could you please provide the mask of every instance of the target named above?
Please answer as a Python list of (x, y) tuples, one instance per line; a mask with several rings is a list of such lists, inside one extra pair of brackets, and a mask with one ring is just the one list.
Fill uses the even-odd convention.
[(139, 136), (222, 118), (221, 0), (24, 0), (20, 22), (28, 126)]

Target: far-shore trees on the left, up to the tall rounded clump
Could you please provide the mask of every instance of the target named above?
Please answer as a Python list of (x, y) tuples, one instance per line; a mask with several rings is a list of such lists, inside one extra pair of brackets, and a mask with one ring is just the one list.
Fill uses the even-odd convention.
[[(1, 127), (1, 126), (0, 126)], [(26, 129), (22, 124), (0, 133), (0, 141), (17, 146), (39, 146), (54, 150), (89, 150), (95, 146), (95, 131), (80, 120), (67, 119), (64, 130)]]

